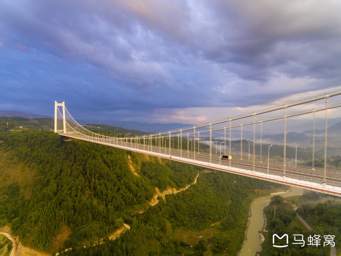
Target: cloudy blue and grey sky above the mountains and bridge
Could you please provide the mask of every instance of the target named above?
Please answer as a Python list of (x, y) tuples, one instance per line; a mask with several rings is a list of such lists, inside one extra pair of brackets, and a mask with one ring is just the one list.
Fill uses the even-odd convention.
[(2, 0), (0, 109), (53, 115), (57, 100), (76, 120), (203, 123), (339, 90), (340, 10), (339, 0)]

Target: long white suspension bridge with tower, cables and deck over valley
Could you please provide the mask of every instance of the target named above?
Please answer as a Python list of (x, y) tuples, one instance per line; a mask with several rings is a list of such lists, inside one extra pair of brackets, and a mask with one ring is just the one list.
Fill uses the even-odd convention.
[[(54, 131), (68, 138), (341, 196), (341, 170), (331, 169), (327, 163), (333, 153), (329, 151), (341, 150), (337, 139), (328, 143), (327, 125), (329, 116), (335, 116), (341, 106), (340, 95), (341, 91), (323, 93), (216, 122), (143, 136), (92, 132), (71, 116), (65, 102), (55, 101)], [(302, 120), (311, 127), (304, 135), (295, 133), (305, 140), (293, 142), (288, 131)], [(316, 120), (319, 125), (322, 120), (324, 129), (316, 129)], [(271, 142), (264, 131), (281, 134), (281, 141)], [(308, 152), (305, 162), (309, 166), (297, 165), (298, 144), (299, 150)], [(275, 148), (280, 157), (271, 152)], [(317, 154), (323, 167), (315, 166)]]

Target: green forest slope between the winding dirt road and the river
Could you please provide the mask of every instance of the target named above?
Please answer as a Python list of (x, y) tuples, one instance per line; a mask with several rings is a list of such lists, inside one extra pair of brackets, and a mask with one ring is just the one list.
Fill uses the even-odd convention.
[(127, 220), (131, 229), (117, 239), (65, 254), (148, 255), (147, 250), (151, 255), (237, 255), (259, 181), (250, 184), (244, 177), (221, 172), (200, 177), (186, 193), (168, 195)]

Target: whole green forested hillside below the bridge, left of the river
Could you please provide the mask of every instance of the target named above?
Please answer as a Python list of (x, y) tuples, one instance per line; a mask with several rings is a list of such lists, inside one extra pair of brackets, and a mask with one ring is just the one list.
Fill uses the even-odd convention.
[[(0, 141), (0, 226), (9, 224), (24, 244), (50, 252), (91, 244), (125, 222), (131, 229), (120, 238), (88, 249), (234, 255), (244, 239), (250, 201), (278, 186), (83, 141), (65, 142), (52, 132), (5, 132)], [(198, 172), (196, 185), (148, 208), (155, 187), (185, 187)], [(136, 214), (141, 209), (146, 211)], [(195, 238), (200, 234), (205, 239)]]

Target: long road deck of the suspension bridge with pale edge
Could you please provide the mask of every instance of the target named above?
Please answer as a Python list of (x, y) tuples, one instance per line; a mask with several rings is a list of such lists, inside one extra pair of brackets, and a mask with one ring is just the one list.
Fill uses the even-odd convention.
[(267, 164), (260, 162), (222, 160), (219, 159), (219, 156), (217, 155), (210, 157), (209, 154), (206, 153), (194, 153), (193, 151), (185, 150), (180, 151), (178, 149), (160, 148), (118, 140), (98, 139), (75, 134), (59, 134), (61, 136), (83, 141), (341, 197), (341, 175), (336, 173), (327, 172), (326, 180), (323, 180), (323, 173), (319, 171), (286, 167), (284, 175), (283, 167), (278, 165), (269, 165), (268, 169)]

